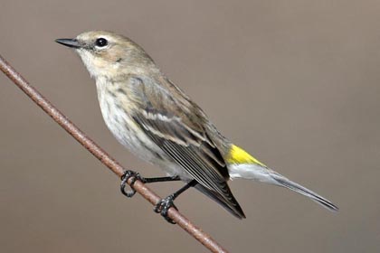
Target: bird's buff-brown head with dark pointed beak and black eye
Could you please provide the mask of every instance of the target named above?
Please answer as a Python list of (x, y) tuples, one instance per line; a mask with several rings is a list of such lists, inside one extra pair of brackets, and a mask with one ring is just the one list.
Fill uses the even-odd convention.
[(73, 48), (81, 56), (91, 77), (117, 78), (155, 66), (147, 53), (127, 37), (104, 31), (81, 33), (55, 42)]

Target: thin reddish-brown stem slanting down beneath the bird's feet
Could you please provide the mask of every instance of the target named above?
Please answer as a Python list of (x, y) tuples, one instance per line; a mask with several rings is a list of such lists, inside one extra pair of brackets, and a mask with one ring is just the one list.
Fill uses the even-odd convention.
[[(68, 117), (64, 116), (57, 108), (55, 108), (51, 102), (43, 95), (34, 89), (27, 80), (25, 80), (14, 68), (0, 55), (0, 70), (2, 70), (5, 75), (17, 85), (18, 88), (22, 89), (24, 93), (32, 98), (34, 103), (36, 103), (40, 108), (43, 109), (55, 122), (57, 122), (63, 129), (65, 129), (72, 137), (74, 137), (81, 145), (83, 145), (87, 150), (90, 151), (92, 155), (100, 160), (101, 163), (105, 164), (113, 173), (116, 173), (119, 177), (123, 174), (125, 169), (111, 156), (109, 156), (99, 145), (94, 143), (89, 136), (86, 136), (80, 128), (75, 126)], [(130, 180), (128, 181), (130, 184)], [(141, 194), (147, 201), (155, 205), (160, 197), (152, 192), (144, 183), (136, 181), (133, 188)], [(212, 252), (227, 252), (219, 243), (217, 243), (213, 238), (206, 234), (203, 230), (196, 227), (193, 222), (188, 220), (179, 211), (174, 208), (170, 208), (168, 211), (168, 217), (180, 226), (183, 230), (193, 236), (196, 240), (208, 248)]]

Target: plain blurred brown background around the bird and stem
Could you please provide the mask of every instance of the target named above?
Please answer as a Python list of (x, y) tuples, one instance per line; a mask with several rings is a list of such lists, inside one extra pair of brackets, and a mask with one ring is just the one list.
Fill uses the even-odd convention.
[[(0, 1), (1, 54), (122, 164), (94, 81), (53, 42), (110, 30), (141, 44), (231, 138), (337, 203), (235, 180), (247, 220), (191, 190), (176, 201), (232, 252), (380, 248), (380, 2)], [(2, 252), (205, 252), (0, 75)], [(152, 185), (161, 196), (180, 184)]]

